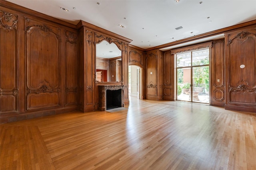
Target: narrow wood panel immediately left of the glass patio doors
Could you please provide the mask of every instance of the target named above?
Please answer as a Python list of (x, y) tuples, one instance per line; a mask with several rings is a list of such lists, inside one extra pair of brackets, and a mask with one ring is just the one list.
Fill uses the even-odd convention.
[(163, 99), (174, 101), (174, 55), (164, 52)]

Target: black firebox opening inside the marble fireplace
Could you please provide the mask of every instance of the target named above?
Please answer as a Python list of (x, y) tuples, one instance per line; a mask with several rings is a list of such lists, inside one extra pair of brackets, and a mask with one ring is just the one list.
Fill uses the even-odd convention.
[(122, 107), (122, 89), (106, 90), (106, 109)]

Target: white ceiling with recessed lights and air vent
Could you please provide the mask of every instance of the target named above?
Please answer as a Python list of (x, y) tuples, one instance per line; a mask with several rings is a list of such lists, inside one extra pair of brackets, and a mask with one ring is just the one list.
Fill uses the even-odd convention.
[[(131, 45), (143, 49), (256, 20), (256, 0), (8, 1), (73, 24), (80, 20), (92, 23), (132, 39)], [(118, 24), (124, 25), (124, 28)], [(183, 28), (175, 29), (180, 26)], [(219, 37), (223, 35), (207, 40)]]

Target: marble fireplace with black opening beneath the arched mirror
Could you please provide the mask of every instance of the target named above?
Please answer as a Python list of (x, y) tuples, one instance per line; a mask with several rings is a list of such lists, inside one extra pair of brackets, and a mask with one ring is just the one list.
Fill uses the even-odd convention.
[(99, 106), (100, 111), (124, 107), (123, 85), (104, 85), (99, 87)]

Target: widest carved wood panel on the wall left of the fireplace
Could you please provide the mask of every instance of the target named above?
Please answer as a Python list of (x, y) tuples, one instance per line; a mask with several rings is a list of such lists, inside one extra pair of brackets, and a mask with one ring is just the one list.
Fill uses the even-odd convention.
[(28, 18), (25, 26), (26, 109), (60, 106), (60, 28)]

